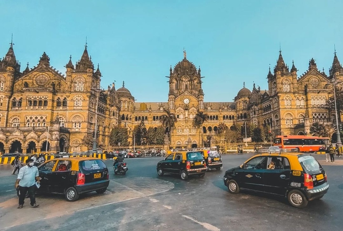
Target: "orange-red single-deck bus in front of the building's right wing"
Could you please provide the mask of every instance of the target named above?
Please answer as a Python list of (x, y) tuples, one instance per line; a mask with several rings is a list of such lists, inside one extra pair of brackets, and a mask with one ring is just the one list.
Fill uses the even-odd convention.
[(289, 135), (274, 138), (274, 146), (278, 146), (280, 149), (297, 149), (298, 152), (317, 152), (320, 146), (329, 144), (329, 137)]

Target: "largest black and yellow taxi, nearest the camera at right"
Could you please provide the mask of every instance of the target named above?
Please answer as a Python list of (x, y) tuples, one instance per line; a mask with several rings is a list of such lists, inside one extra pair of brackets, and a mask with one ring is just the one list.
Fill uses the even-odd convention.
[(230, 193), (240, 190), (283, 196), (297, 208), (327, 193), (327, 175), (309, 154), (263, 153), (225, 172), (224, 184)]

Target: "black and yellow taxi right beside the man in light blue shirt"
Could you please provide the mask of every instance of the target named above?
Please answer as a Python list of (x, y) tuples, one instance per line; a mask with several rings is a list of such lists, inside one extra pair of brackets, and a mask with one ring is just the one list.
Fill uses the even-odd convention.
[(40, 187), (37, 192), (64, 194), (67, 201), (80, 194), (104, 193), (109, 185), (105, 163), (93, 157), (58, 158), (38, 167)]

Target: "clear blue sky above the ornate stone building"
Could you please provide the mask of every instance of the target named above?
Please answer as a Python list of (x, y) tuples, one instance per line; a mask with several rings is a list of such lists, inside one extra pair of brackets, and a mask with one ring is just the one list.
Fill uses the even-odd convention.
[(313, 57), (329, 73), (334, 44), (343, 61), (343, 1), (0, 1), (0, 56), (9, 48), (36, 66), (45, 51), (64, 74), (72, 55), (88, 53), (102, 72), (102, 87), (125, 81), (138, 102), (165, 102), (170, 65), (187, 59), (201, 66), (205, 101), (231, 102), (266, 76), (279, 55), (298, 76)]

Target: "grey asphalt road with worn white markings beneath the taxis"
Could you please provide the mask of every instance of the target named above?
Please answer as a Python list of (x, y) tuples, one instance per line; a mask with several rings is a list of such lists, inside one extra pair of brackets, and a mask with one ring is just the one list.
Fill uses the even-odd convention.
[(223, 155), (222, 170), (187, 181), (172, 175), (158, 177), (156, 163), (161, 157), (125, 159), (129, 167), (125, 176), (114, 175), (113, 162), (108, 160), (111, 182), (105, 194), (88, 193), (76, 202), (66, 202), (61, 195), (39, 195), (40, 207), (31, 208), (26, 201), (22, 209), (16, 209), (11, 166), (1, 165), (0, 230), (342, 230), (343, 160), (320, 161), (330, 189), (321, 200), (296, 209), (282, 198), (228, 193), (225, 170), (250, 156)]

